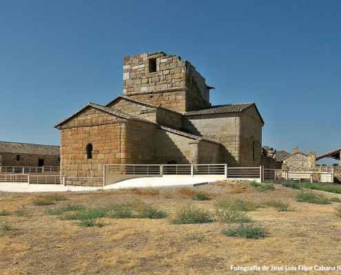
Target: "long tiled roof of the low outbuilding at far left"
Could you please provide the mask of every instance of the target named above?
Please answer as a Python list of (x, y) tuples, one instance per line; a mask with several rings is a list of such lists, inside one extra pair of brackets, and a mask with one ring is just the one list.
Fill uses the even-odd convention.
[(59, 155), (59, 146), (19, 142), (0, 142), (0, 154), (1, 153)]

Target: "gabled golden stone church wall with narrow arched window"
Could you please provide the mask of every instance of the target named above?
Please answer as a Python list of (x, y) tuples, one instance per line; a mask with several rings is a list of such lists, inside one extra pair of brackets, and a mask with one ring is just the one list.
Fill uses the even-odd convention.
[[(87, 109), (61, 129), (61, 175), (103, 177), (103, 164), (121, 163), (125, 125), (113, 115)], [(92, 144), (92, 159), (87, 159)]]

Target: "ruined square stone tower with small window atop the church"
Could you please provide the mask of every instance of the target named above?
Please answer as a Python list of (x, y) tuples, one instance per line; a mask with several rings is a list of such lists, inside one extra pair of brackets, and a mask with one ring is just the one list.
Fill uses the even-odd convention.
[(152, 52), (123, 59), (123, 95), (184, 113), (209, 107), (205, 78), (180, 56)]

